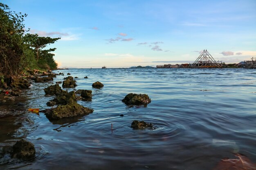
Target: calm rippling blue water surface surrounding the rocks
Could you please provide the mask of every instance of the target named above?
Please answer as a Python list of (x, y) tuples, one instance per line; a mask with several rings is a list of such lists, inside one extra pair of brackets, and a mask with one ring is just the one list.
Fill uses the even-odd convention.
[[(78, 103), (94, 112), (52, 122), (43, 113), (0, 118), (0, 146), (25, 137), (37, 149), (34, 161), (4, 157), (0, 169), (211, 170), (222, 158), (234, 158), (233, 153), (242, 153), (256, 163), (256, 70), (58, 72), (65, 76), (57, 76), (54, 83), (70, 72), (79, 77), (75, 89), (92, 90), (91, 102)], [(104, 87), (92, 89), (95, 81)], [(52, 97), (45, 97), (43, 89), (49, 85), (33, 83), (22, 94), (28, 100), (21, 109), (47, 108)], [(148, 94), (152, 102), (147, 107), (128, 107), (121, 102), (128, 93)], [(15, 109), (13, 103), (4, 107)], [(130, 127), (133, 120), (153, 123), (155, 129), (134, 130)]]

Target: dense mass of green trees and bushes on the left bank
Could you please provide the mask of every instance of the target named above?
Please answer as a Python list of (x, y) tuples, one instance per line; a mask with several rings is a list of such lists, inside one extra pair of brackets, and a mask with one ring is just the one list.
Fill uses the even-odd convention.
[[(10, 11), (0, 3), (0, 75), (13, 77), (26, 69), (54, 69), (56, 48), (43, 50), (60, 38), (25, 34), (24, 18), (27, 14)], [(24, 35), (25, 34), (25, 35)], [(4, 78), (0, 78), (0, 82)]]

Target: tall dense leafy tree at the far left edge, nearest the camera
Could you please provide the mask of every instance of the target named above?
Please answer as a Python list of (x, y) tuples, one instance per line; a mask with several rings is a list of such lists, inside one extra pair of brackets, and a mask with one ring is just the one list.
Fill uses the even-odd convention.
[(6, 4), (0, 3), (0, 74), (13, 76), (22, 70), (20, 64), (24, 44), (22, 35), (25, 26), (24, 17), (15, 11), (10, 11)]

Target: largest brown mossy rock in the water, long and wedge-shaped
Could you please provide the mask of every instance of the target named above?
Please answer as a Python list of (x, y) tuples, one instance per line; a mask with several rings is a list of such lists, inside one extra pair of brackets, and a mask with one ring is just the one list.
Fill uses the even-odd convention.
[(45, 115), (49, 120), (58, 120), (74, 116), (88, 115), (92, 112), (93, 109), (89, 109), (77, 104), (76, 102), (72, 102), (67, 105), (59, 105), (48, 113), (45, 113)]

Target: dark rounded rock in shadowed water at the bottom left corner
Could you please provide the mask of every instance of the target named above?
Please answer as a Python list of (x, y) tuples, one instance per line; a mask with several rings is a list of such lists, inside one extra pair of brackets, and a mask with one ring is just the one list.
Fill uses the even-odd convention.
[(34, 144), (25, 139), (21, 139), (13, 145), (12, 158), (28, 160), (34, 158), (35, 155), (36, 149)]

